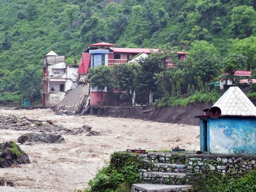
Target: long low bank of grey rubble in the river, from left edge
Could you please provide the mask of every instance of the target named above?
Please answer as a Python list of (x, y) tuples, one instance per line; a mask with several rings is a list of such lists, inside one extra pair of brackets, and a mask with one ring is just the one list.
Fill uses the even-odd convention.
[(28, 119), (26, 117), (0, 116), (0, 129), (10, 129), (15, 131), (33, 131), (33, 132), (51, 132), (57, 134), (82, 134), (91, 131), (90, 125), (83, 125), (83, 127), (67, 129), (62, 125), (55, 125), (51, 120), (37, 121)]

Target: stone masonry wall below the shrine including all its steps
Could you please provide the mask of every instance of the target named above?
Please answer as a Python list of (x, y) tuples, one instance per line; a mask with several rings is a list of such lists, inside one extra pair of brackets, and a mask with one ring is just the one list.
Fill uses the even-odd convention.
[[(184, 191), (191, 187), (189, 178), (208, 171), (222, 174), (246, 174), (256, 169), (256, 156), (195, 154), (195, 153), (148, 153), (131, 154), (142, 163), (139, 170), (141, 183), (147, 185), (175, 185), (177, 189), (146, 190), (142, 184), (134, 184), (131, 191)], [(179, 186), (183, 188), (179, 188)], [(151, 186), (150, 186), (151, 187)], [(148, 187), (148, 188), (150, 188)], [(154, 187), (154, 186), (153, 186)], [(143, 190), (142, 190), (143, 189)]]

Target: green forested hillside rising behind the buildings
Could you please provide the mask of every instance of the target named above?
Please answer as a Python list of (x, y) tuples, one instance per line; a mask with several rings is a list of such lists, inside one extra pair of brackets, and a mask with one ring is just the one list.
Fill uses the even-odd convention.
[(188, 51), (183, 86), (224, 68), (250, 66), (255, 77), (255, 9), (254, 0), (0, 0), (0, 103), (41, 98), (47, 52), (72, 63), (98, 42)]

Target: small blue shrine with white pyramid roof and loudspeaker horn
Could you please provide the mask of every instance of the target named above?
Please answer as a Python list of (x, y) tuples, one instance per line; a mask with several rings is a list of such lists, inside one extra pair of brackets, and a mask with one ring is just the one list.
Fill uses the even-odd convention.
[(230, 87), (200, 116), (200, 149), (208, 154), (256, 155), (256, 107)]

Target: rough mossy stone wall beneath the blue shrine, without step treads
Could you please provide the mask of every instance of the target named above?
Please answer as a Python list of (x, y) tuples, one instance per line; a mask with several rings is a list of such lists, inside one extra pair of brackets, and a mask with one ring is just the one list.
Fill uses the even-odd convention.
[[(196, 153), (148, 153), (133, 154), (141, 163), (142, 167), (139, 171), (141, 182), (147, 180), (166, 180), (166, 175), (153, 175), (149, 177), (148, 172), (163, 171), (186, 173), (188, 179), (196, 173), (202, 172), (221, 172), (222, 174), (246, 174), (256, 169), (256, 156), (239, 156), (239, 155), (221, 155), (221, 154), (196, 154)], [(159, 164), (164, 164), (159, 166)], [(170, 165), (166, 165), (170, 164)], [(175, 164), (175, 165), (174, 165)], [(181, 166), (177, 166), (181, 165)], [(170, 170), (170, 171), (169, 171)], [(154, 178), (153, 178), (154, 177)], [(163, 177), (163, 179), (161, 178)], [(188, 180), (187, 180), (188, 181)], [(176, 182), (176, 181), (175, 181)], [(170, 182), (172, 183), (172, 182)], [(183, 182), (182, 182), (183, 183)], [(178, 183), (177, 183), (178, 184)]]

